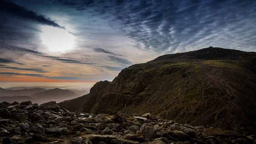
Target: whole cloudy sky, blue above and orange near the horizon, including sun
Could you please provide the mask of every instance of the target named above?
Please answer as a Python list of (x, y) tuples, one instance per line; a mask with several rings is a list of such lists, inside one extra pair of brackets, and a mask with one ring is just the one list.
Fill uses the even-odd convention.
[(92, 85), (209, 46), (256, 51), (256, 1), (0, 0), (0, 86)]

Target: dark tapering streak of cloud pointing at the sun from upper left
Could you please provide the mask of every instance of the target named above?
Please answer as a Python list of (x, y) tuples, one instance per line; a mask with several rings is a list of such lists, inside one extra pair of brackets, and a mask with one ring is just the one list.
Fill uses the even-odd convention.
[(12, 3), (11, 1), (1, 0), (0, 11), (5, 11), (15, 16), (22, 17), (23, 19), (32, 20), (43, 25), (49, 25), (65, 29), (63, 26), (60, 26), (58, 23), (51, 20), (49, 17), (38, 14), (34, 11), (30, 11), (22, 6), (18, 6), (17, 4)]

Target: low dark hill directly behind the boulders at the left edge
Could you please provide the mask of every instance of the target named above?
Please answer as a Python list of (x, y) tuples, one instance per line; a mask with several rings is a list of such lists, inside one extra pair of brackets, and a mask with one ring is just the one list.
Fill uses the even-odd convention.
[(41, 101), (37, 99), (33, 99), (30, 96), (2, 96), (0, 97), (0, 102), (26, 102), (26, 101), (32, 101), (32, 103), (42, 103)]

